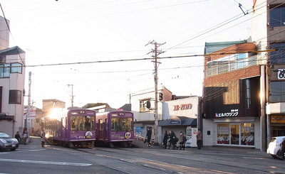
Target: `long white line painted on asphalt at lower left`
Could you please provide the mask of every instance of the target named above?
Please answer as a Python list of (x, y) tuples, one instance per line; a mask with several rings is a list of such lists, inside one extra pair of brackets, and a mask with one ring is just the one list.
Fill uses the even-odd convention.
[(92, 165), (92, 164), (88, 164), (88, 163), (66, 163), (66, 162), (53, 162), (53, 161), (29, 161), (29, 160), (14, 160), (14, 159), (3, 159), (3, 158), (0, 158), (0, 161), (14, 162), (14, 163), (36, 163), (36, 164), (75, 165), (75, 166)]

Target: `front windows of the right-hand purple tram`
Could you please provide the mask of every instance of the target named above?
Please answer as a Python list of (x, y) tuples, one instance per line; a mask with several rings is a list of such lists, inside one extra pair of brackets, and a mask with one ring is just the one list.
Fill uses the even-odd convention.
[(133, 131), (132, 118), (112, 118), (111, 119), (112, 131)]

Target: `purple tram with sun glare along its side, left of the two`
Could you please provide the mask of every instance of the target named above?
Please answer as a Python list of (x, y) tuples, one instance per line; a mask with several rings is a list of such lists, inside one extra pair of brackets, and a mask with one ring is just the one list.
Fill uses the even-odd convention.
[(95, 111), (72, 109), (67, 114), (51, 114), (41, 119), (46, 139), (61, 146), (93, 146), (95, 141)]

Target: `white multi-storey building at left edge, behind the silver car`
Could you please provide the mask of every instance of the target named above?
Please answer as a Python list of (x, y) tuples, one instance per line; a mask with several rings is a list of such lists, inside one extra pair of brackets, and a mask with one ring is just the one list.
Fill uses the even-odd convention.
[(14, 136), (24, 125), (26, 53), (17, 46), (8, 48), (9, 28), (0, 18), (0, 131)]

